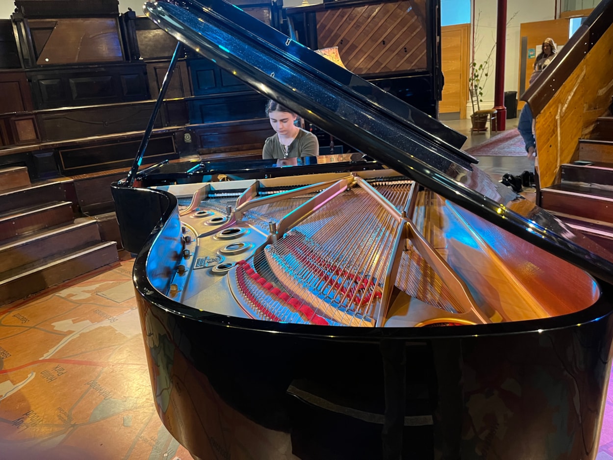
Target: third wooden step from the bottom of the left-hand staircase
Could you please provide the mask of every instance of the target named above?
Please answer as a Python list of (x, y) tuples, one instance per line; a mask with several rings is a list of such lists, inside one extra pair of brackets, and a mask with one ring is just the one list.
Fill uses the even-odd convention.
[(72, 202), (59, 201), (0, 214), (0, 241), (72, 222)]

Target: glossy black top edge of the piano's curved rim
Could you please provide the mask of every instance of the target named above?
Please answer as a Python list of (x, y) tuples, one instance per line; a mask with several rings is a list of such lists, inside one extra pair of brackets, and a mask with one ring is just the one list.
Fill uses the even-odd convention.
[[(596, 281), (597, 286), (600, 289), (600, 296), (598, 297), (598, 300), (589, 307), (574, 313), (549, 316), (548, 318), (538, 318), (534, 320), (437, 327), (386, 328), (379, 326), (375, 328), (361, 328), (352, 326), (319, 326), (316, 324), (281, 323), (276, 321), (221, 315), (219, 313), (208, 312), (207, 310), (194, 309), (193, 307), (188, 307), (181, 304), (181, 302), (174, 301), (173, 299), (170, 299), (170, 297), (167, 297), (159, 292), (158, 289), (154, 288), (147, 276), (148, 255), (156, 242), (159, 232), (161, 232), (162, 228), (166, 226), (169, 219), (175, 214), (175, 209), (178, 207), (177, 197), (164, 190), (152, 190), (149, 188), (140, 190), (161, 193), (168, 196), (169, 206), (162, 213), (158, 224), (156, 224), (154, 229), (151, 231), (147, 241), (134, 260), (132, 280), (134, 282), (135, 291), (137, 295), (143, 299), (143, 301), (146, 301), (151, 306), (155, 306), (158, 309), (165, 310), (167, 313), (181, 316), (189, 320), (208, 323), (213, 326), (249, 329), (249, 331), (270, 334), (303, 335), (319, 337), (321, 339), (323, 339), (323, 336), (325, 335), (326, 339), (360, 339), (361, 341), (368, 342), (383, 338), (415, 340), (432, 339), (435, 337), (477, 337), (479, 335), (526, 334), (530, 332), (541, 334), (542, 332), (546, 332), (551, 329), (581, 327), (582, 324), (603, 320), (606, 316), (613, 313), (613, 303), (607, 301), (607, 297), (613, 297), (613, 286), (601, 278), (589, 274), (587, 270), (582, 269), (581, 267), (579, 268), (584, 270), (584, 272), (586, 272)], [(178, 212), (176, 215), (178, 217)], [(332, 331), (333, 333), (331, 333)]]

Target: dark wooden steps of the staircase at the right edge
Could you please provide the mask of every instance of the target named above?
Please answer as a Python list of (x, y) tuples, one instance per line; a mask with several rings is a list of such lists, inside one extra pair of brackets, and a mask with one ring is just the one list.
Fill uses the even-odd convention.
[(541, 207), (613, 253), (613, 117), (598, 118), (560, 172), (560, 183), (541, 189)]

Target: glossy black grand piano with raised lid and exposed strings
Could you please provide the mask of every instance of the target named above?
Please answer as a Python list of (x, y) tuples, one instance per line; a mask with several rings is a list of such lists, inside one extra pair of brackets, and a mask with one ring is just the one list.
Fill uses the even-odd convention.
[(145, 13), (360, 153), (137, 156), (113, 184), (155, 404), (194, 458), (596, 458), (611, 255), (492, 182), (457, 132), (238, 7)]

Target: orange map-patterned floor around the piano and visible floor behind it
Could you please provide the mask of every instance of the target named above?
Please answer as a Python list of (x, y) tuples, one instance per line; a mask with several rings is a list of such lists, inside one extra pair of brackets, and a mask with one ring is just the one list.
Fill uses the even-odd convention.
[[(468, 120), (446, 124), (470, 129)], [(490, 137), (467, 135), (465, 148)], [(523, 155), (479, 160), (494, 180), (533, 167)], [(0, 459), (191, 459), (154, 408), (133, 259), (122, 256), (110, 269), (0, 307)], [(613, 460), (612, 409), (607, 398), (598, 460)]]

